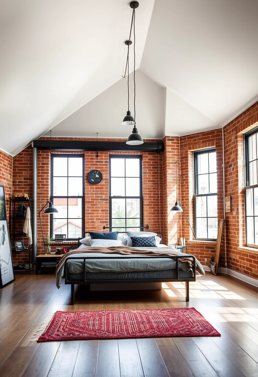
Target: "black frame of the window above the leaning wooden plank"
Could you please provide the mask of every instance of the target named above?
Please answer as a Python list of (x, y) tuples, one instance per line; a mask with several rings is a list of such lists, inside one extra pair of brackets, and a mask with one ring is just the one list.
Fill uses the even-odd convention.
[[(206, 206), (207, 206), (207, 198), (209, 196), (217, 196), (217, 208), (218, 208), (218, 186), (217, 186), (217, 192), (216, 193), (208, 193), (208, 194), (197, 194), (198, 193), (198, 156), (204, 153), (213, 153), (216, 152), (216, 148), (209, 148), (209, 149), (202, 149), (193, 152), (193, 226), (194, 226), (194, 234), (195, 234), (195, 239), (198, 241), (215, 241), (217, 240), (216, 238), (200, 238), (197, 237), (197, 209), (196, 209), (196, 201), (198, 197), (200, 196), (206, 196)], [(216, 152), (217, 153), (217, 152)], [(217, 154), (216, 154), (217, 156)], [(209, 157), (208, 157), (209, 158)], [(209, 164), (208, 164), (209, 166)], [(212, 172), (214, 173), (214, 172)], [(208, 173), (209, 175), (212, 173)], [(217, 169), (216, 169), (217, 173)], [(208, 208), (208, 207), (206, 207)], [(208, 216), (208, 213), (206, 215), (206, 222), (207, 222), (207, 236), (208, 236), (208, 218), (216, 218), (218, 220), (218, 216)]]

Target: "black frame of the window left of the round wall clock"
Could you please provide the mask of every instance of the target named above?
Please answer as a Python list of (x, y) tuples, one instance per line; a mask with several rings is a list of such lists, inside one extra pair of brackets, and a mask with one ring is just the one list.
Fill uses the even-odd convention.
[[(82, 159), (82, 196), (74, 196), (74, 195), (67, 195), (67, 196), (60, 196), (60, 195), (53, 195), (53, 190), (54, 190), (54, 158), (62, 158), (62, 157), (67, 157), (67, 158), (81, 158)], [(81, 198), (81, 237), (83, 234), (83, 231), (85, 229), (85, 158), (84, 154), (78, 153), (78, 154), (73, 154), (73, 153), (51, 153), (51, 196), (50, 200), (54, 204), (54, 199), (60, 198), (60, 199), (71, 199), (71, 198)], [(67, 160), (68, 163), (68, 160)], [(71, 176), (68, 176), (71, 177)], [(68, 191), (67, 191), (68, 192)], [(50, 234), (54, 235), (54, 215), (50, 214)], [(64, 218), (65, 219), (65, 218)], [(68, 227), (68, 211), (67, 211), (67, 227)], [(66, 235), (68, 236), (68, 228), (67, 228), (67, 233)], [(77, 241), (78, 238), (66, 238), (66, 241)]]

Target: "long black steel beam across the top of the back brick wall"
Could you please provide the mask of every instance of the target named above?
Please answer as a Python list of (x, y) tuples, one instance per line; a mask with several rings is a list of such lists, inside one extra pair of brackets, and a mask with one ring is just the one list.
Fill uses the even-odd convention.
[(125, 141), (81, 141), (81, 140), (34, 140), (32, 146), (39, 150), (86, 150), (98, 152), (156, 152), (164, 151), (164, 143), (150, 142), (128, 145)]

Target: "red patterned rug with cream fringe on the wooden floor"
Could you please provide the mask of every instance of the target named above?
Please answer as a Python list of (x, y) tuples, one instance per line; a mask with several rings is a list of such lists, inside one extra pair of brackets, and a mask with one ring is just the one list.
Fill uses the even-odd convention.
[(194, 308), (57, 311), (47, 322), (32, 340), (220, 336)]

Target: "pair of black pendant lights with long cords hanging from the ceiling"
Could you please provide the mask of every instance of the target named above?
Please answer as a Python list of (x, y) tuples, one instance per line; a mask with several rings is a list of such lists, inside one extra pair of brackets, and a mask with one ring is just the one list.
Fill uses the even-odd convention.
[[(128, 68), (128, 78), (127, 78), (127, 88), (128, 88), (128, 111), (127, 111), (127, 115), (125, 118), (127, 118), (127, 116), (131, 117), (130, 119), (127, 118), (126, 120), (126, 123), (123, 123), (122, 124), (127, 124), (127, 125), (134, 125), (134, 128), (132, 130), (132, 133), (131, 135), (128, 137), (127, 141), (126, 141), (126, 144), (129, 144), (129, 145), (140, 145), (140, 144), (143, 144), (143, 139), (141, 138), (141, 136), (138, 134), (138, 130), (137, 128), (135, 127), (136, 125), (136, 122), (135, 122), (135, 9), (138, 8), (139, 6), (139, 3), (137, 1), (132, 1), (130, 3), (130, 7), (133, 9), (133, 14), (132, 14), (132, 21), (131, 21), (131, 29), (130, 29), (130, 37), (131, 37), (131, 32), (132, 32), (132, 25), (134, 24), (134, 118), (131, 116), (131, 113), (129, 111), (129, 44), (131, 44), (132, 42), (130, 41), (130, 37), (129, 37), (129, 40), (128, 41), (125, 41), (125, 43), (127, 44), (128, 46), (128, 51), (127, 51), (127, 68)], [(131, 43), (130, 43), (131, 42)], [(134, 121), (134, 123), (129, 123), (129, 122), (132, 122)]]

